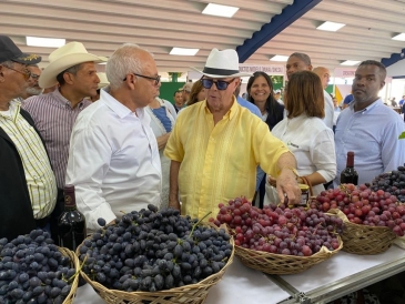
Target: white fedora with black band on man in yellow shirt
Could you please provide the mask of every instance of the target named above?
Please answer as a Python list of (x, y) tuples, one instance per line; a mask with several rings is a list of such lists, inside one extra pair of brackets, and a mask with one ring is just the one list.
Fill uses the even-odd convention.
[(251, 73), (240, 73), (239, 55), (235, 50), (212, 49), (204, 70), (191, 68), (210, 78), (229, 78), (229, 77), (251, 77)]

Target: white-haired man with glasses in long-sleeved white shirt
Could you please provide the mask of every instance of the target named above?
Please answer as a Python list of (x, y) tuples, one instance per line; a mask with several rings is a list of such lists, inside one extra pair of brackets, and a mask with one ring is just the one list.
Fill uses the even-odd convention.
[(161, 164), (146, 107), (159, 95), (160, 75), (148, 51), (120, 47), (105, 68), (109, 92), (83, 110), (70, 142), (67, 183), (75, 185), (88, 229), (160, 204)]

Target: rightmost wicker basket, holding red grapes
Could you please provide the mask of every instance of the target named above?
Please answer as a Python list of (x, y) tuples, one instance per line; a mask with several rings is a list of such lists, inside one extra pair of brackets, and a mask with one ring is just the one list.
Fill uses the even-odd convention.
[(343, 251), (354, 254), (371, 255), (387, 251), (394, 243), (395, 233), (389, 227), (354, 224), (340, 210), (330, 210), (345, 224), (342, 234)]

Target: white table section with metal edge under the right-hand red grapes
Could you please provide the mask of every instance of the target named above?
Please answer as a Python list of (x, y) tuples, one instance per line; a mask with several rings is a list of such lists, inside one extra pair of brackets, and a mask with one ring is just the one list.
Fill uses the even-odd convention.
[(341, 251), (302, 274), (270, 277), (290, 293), (295, 293), (295, 301), (282, 303), (327, 303), (403, 271), (405, 250), (393, 245), (377, 255)]

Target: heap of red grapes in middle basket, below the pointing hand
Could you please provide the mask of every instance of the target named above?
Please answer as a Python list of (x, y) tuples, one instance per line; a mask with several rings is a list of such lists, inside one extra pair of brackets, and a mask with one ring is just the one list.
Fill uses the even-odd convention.
[(310, 256), (322, 246), (340, 246), (337, 234), (343, 221), (317, 210), (287, 209), (284, 205), (252, 206), (246, 199), (219, 204), (216, 225), (227, 224), (235, 245), (276, 254)]

